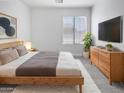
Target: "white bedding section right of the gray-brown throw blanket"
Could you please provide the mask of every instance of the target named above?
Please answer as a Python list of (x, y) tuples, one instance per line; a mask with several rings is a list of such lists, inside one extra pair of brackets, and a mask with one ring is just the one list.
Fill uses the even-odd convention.
[(60, 52), (56, 75), (81, 75), (77, 61), (69, 52)]

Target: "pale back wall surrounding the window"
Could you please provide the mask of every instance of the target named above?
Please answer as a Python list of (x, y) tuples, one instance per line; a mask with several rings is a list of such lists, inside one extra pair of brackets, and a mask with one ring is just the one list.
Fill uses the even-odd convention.
[(62, 45), (63, 16), (87, 16), (90, 31), (90, 8), (34, 8), (32, 10), (32, 42), (42, 51), (70, 51), (82, 55), (82, 45)]

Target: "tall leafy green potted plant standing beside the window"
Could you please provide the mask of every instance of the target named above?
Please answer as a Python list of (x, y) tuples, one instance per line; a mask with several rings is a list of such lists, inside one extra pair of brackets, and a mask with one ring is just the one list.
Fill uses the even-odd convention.
[(83, 47), (84, 47), (83, 57), (89, 58), (90, 55), (89, 50), (91, 44), (92, 44), (91, 32), (85, 32), (83, 37)]

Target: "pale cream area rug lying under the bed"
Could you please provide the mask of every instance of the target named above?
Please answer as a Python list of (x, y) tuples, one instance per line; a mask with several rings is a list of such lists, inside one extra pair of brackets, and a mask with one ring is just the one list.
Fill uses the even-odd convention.
[[(101, 93), (80, 60), (77, 60), (77, 63), (84, 76), (83, 93)], [(12, 93), (79, 93), (79, 88), (77, 86), (20, 85)]]

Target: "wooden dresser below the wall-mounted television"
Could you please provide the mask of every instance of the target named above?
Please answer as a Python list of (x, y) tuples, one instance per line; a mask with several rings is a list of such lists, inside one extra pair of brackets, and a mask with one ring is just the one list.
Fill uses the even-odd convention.
[(91, 63), (95, 64), (112, 82), (124, 82), (124, 52), (92, 46), (90, 51)]

